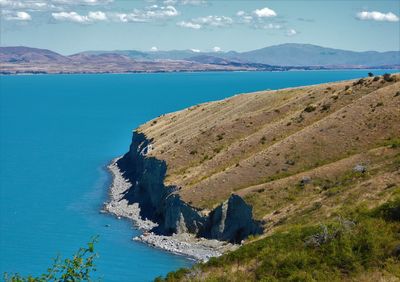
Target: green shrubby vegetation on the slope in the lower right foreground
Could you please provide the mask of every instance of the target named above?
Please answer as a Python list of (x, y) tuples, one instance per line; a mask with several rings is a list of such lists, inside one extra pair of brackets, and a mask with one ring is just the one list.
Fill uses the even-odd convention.
[[(319, 226), (292, 226), (165, 280), (343, 281), (373, 270), (400, 278), (400, 197)], [(240, 268), (238, 268), (240, 266)], [(239, 270), (238, 270), (239, 269)]]

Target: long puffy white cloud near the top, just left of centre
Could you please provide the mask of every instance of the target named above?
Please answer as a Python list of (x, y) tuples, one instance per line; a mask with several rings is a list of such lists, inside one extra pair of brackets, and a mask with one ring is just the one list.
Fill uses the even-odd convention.
[(119, 22), (150, 22), (156, 19), (167, 19), (179, 15), (174, 6), (152, 5), (143, 10), (134, 9), (130, 13), (114, 13), (111, 17)]

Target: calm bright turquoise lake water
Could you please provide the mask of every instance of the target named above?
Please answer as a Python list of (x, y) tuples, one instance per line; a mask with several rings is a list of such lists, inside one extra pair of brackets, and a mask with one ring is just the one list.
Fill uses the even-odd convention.
[(44, 272), (93, 235), (105, 281), (151, 281), (191, 265), (132, 242), (138, 231), (129, 222), (98, 212), (110, 183), (105, 166), (127, 151), (131, 130), (199, 102), (366, 73), (1, 76), (0, 273)]

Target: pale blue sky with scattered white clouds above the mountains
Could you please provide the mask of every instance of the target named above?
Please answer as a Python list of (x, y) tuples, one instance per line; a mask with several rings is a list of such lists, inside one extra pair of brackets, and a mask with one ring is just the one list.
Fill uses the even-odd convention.
[(400, 0), (0, 0), (0, 45), (248, 51), (307, 43), (400, 50)]

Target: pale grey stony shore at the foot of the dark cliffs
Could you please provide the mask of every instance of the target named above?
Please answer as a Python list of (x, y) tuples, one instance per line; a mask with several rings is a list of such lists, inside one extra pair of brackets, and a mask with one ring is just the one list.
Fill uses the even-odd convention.
[(128, 201), (123, 199), (124, 192), (132, 185), (122, 176), (116, 164), (117, 160), (114, 159), (108, 166), (113, 176), (113, 181), (110, 187), (110, 200), (104, 205), (103, 209), (118, 218), (124, 217), (132, 220), (135, 227), (143, 231), (142, 235), (134, 237), (133, 240), (199, 261), (207, 261), (211, 257), (220, 256), (226, 251), (237, 248), (237, 245), (218, 240), (196, 238), (187, 233), (162, 236), (150, 232), (157, 224), (150, 220), (142, 219), (139, 205), (136, 203), (128, 205)]

